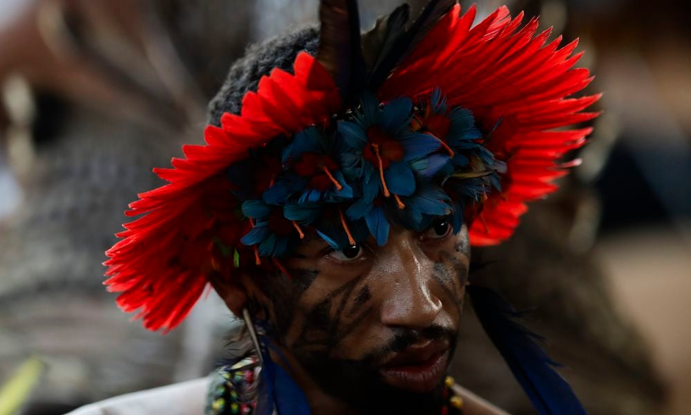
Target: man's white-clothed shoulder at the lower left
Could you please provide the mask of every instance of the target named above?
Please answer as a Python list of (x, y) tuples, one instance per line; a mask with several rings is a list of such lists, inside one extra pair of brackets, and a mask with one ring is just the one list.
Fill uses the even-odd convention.
[(209, 379), (200, 378), (86, 405), (68, 415), (201, 415)]

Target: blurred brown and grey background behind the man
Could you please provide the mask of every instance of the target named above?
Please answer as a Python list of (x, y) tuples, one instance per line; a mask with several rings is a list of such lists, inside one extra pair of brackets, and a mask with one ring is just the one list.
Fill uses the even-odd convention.
[[(361, 2), (363, 27), (400, 0)], [(409, 1), (419, 10), (426, 1)], [(504, 2), (482, 1), (480, 17)], [(179, 329), (131, 323), (104, 250), (160, 185), (250, 42), (316, 21), (317, 0), (0, 0), (0, 415), (63, 414), (204, 376), (232, 317), (213, 294)], [(463, 3), (464, 8), (469, 3)], [(515, 0), (603, 91), (583, 165), (517, 234), (476, 250), (592, 414), (691, 407), (691, 26), (685, 2)], [(556, 37), (556, 35), (553, 35)], [(452, 372), (515, 414), (531, 406), (468, 307)]]

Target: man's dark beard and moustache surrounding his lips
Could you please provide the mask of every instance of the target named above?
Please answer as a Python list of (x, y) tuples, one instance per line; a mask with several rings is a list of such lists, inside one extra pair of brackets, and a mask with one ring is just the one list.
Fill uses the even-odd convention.
[(330, 353), (296, 353), (316, 384), (359, 414), (438, 414), (444, 404), (444, 380), (419, 393), (399, 389), (384, 381), (378, 364), (421, 340), (446, 340), (453, 357), (458, 333), (442, 326), (423, 330), (397, 329), (386, 346), (370, 351), (361, 359), (333, 358)]

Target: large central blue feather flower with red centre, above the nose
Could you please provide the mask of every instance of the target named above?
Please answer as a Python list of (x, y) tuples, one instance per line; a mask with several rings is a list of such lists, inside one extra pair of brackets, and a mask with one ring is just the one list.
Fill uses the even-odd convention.
[[(386, 244), (390, 228), (386, 203), (379, 196), (393, 199), (400, 210), (406, 208), (406, 198), (413, 204), (408, 208), (415, 210), (422, 194), (416, 195), (415, 190), (426, 184), (416, 177), (431, 178), (447, 163), (446, 156), (431, 156), (441, 147), (439, 140), (410, 129), (413, 116), (410, 98), (380, 104), (366, 93), (352, 121), (338, 124), (339, 133), (350, 146), (350, 151), (341, 155), (345, 174), (358, 181), (361, 190), (359, 199), (348, 208), (348, 217), (365, 218), (379, 246)], [(419, 216), (416, 228), (421, 221)]]

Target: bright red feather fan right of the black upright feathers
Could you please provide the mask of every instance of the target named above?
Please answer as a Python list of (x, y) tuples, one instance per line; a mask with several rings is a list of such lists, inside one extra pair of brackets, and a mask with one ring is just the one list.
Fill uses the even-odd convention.
[(456, 5), (439, 20), (379, 89), (381, 100), (411, 98), (441, 87), (449, 104), (471, 109), (485, 131), (499, 120), (486, 142), (495, 157), (507, 162), (502, 192), (484, 202), (470, 229), (471, 243), (486, 246), (511, 237), (525, 202), (556, 190), (551, 183), (566, 172), (557, 164), (582, 146), (591, 129), (563, 130), (599, 113), (581, 113), (600, 95), (567, 98), (592, 77), (573, 68), (578, 41), (558, 49), (561, 37), (545, 44), (551, 30), (536, 34), (538, 20), (520, 28), (521, 13), (511, 19), (499, 8), (474, 27), (475, 6), (466, 14)]

